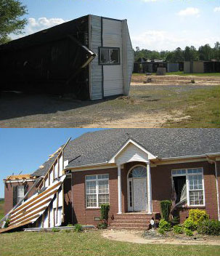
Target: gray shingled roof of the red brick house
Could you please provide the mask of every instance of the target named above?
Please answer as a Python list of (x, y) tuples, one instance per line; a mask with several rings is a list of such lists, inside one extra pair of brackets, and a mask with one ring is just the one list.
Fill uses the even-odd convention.
[[(129, 138), (160, 158), (220, 152), (220, 129), (105, 129), (71, 140), (65, 148), (65, 160), (69, 161), (68, 167), (104, 163)], [(43, 164), (41, 175), (49, 164), (52, 164), (50, 159)], [(36, 173), (39, 171), (33, 175)]]

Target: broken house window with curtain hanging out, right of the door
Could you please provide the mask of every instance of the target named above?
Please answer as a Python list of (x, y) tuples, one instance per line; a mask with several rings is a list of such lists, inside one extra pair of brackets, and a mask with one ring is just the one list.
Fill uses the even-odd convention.
[(187, 188), (189, 206), (205, 205), (203, 168), (172, 170), (176, 190), (176, 203), (183, 198), (184, 187)]

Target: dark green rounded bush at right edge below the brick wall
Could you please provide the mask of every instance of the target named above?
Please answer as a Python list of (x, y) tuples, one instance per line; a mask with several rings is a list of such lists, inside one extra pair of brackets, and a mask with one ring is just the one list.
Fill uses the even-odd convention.
[(220, 236), (220, 221), (204, 220), (198, 224), (197, 232), (203, 235)]

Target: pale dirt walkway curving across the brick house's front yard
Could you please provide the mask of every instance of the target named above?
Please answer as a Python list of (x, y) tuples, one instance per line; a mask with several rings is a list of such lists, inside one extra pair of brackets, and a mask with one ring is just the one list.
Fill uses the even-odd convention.
[(115, 241), (126, 241), (136, 244), (181, 244), (181, 245), (219, 245), (220, 238), (206, 238), (200, 240), (173, 239), (144, 239), (141, 231), (104, 231), (102, 236)]

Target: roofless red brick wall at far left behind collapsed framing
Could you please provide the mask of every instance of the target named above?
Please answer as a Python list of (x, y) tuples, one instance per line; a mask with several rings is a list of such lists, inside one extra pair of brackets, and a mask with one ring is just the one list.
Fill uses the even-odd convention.
[[(31, 186), (33, 185), (33, 181), (28, 181), (27, 188), (26, 188), (26, 192), (31, 188)], [(9, 212), (10, 209), (13, 208), (13, 187), (16, 185), (23, 185), (23, 183), (5, 183), (4, 184), (4, 214), (6, 215), (7, 212)], [(28, 198), (30, 198), (30, 196), (33, 195), (33, 193), (35, 192), (35, 190), (33, 190), (29, 195)]]

